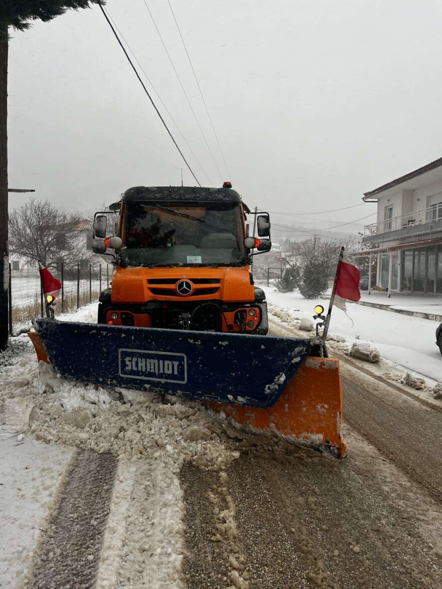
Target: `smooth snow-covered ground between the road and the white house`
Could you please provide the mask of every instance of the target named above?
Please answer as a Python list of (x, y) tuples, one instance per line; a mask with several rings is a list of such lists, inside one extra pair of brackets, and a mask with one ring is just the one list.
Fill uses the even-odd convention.
[[(299, 292), (280, 293), (273, 287), (261, 288), (265, 290), (269, 303), (288, 309), (293, 317), (312, 319), (318, 304), (325, 307), (325, 311), (328, 309), (328, 300), (309, 300)], [(436, 346), (436, 321), (354, 303), (348, 303), (347, 315), (335, 307), (329, 333), (345, 337), (349, 343), (370, 342), (385, 359), (428, 378), (442, 380), (442, 356)]]

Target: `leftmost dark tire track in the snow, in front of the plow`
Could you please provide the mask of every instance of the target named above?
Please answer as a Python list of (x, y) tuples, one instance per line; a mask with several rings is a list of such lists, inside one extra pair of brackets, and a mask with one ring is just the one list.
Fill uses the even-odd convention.
[(79, 452), (38, 549), (32, 589), (94, 587), (117, 461)]

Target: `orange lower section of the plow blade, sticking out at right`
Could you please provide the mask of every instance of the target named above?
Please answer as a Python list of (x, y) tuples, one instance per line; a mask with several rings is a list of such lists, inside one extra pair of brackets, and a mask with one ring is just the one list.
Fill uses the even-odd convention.
[(339, 360), (308, 356), (275, 405), (256, 409), (210, 402), (213, 411), (225, 413), (239, 429), (275, 434), (344, 458), (342, 436), (342, 386)]

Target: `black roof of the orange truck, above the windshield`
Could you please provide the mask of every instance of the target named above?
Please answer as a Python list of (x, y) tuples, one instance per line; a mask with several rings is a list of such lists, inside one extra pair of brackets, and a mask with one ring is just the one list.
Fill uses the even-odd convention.
[[(123, 194), (123, 203), (131, 201), (193, 201), (242, 203), (232, 188), (203, 188), (199, 186), (134, 186)], [(245, 208), (247, 208), (245, 206)]]

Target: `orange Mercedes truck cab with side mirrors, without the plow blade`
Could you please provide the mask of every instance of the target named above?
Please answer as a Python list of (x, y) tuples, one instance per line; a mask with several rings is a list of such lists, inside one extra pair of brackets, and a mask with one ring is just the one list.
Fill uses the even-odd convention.
[[(222, 188), (129, 188), (94, 217), (93, 250), (111, 253), (111, 288), (100, 293), (98, 323), (266, 335), (265, 294), (253, 283), (252, 256), (271, 249), (267, 213), (256, 217), (230, 183)], [(262, 237), (265, 236), (265, 239)]]

